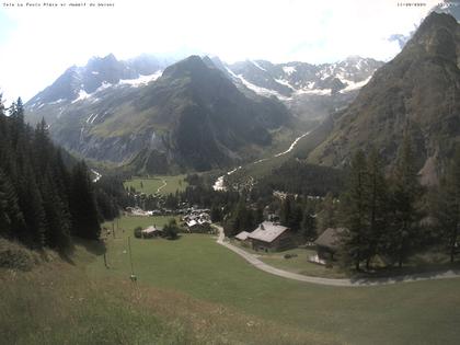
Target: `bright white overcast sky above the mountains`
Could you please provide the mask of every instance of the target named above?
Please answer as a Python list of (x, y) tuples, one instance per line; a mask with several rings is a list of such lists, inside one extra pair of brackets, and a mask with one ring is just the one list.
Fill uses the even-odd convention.
[[(24, 101), (68, 67), (113, 53), (184, 57), (217, 55), (227, 62), (333, 62), (352, 55), (389, 60), (394, 34), (407, 35), (439, 0), (99, 0), (110, 7), (27, 7), (0, 2), (0, 93)], [(8, 7), (13, 3), (14, 7)], [(23, 7), (19, 7), (23, 3)], [(65, 3), (66, 7), (59, 4)], [(425, 5), (399, 5), (423, 3)]]

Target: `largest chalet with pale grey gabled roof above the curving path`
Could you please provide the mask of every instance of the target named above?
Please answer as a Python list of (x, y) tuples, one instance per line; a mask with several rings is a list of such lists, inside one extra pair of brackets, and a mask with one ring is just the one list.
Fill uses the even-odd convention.
[(294, 246), (294, 238), (289, 228), (276, 222), (264, 221), (248, 235), (255, 251), (274, 252)]

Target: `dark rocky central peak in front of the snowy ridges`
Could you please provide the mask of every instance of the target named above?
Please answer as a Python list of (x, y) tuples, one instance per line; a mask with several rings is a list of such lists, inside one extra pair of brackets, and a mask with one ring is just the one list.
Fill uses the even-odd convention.
[[(103, 65), (100, 74), (119, 66)], [(246, 97), (197, 56), (147, 83), (111, 81), (84, 97), (46, 104), (35, 116), (56, 114), (48, 117), (51, 136), (71, 151), (97, 160), (133, 160), (150, 172), (207, 170), (252, 157), (271, 143), (272, 129), (292, 119), (276, 99)]]

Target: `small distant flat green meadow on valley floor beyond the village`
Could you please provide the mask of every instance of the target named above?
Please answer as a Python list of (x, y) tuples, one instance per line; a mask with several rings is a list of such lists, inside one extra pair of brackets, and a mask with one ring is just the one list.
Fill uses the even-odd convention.
[[(153, 176), (153, 177), (135, 177), (130, 181), (124, 183), (125, 187), (135, 187), (137, 192), (148, 194), (156, 194), (157, 189), (163, 185), (163, 181), (166, 182), (166, 186), (161, 188), (160, 194), (174, 194), (176, 191), (185, 191), (188, 185), (184, 181), (185, 175), (175, 175), (175, 176)], [(143, 188), (140, 186), (142, 182)]]

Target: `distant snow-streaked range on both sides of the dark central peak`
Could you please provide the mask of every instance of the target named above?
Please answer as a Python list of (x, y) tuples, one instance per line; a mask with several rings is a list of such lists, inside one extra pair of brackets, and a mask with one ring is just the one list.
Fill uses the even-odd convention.
[[(225, 64), (218, 57), (203, 58), (217, 67), (246, 95), (275, 96), (298, 117), (324, 118), (331, 111), (352, 102), (372, 73), (383, 65), (369, 58), (349, 57), (335, 64), (272, 64), (245, 60)], [(161, 77), (175, 62), (142, 55), (130, 60), (117, 60), (114, 55), (91, 58), (83, 67), (72, 66), (51, 85), (26, 103), (30, 122), (45, 117), (53, 124), (69, 104), (85, 100), (99, 102), (118, 88), (139, 88)]]

